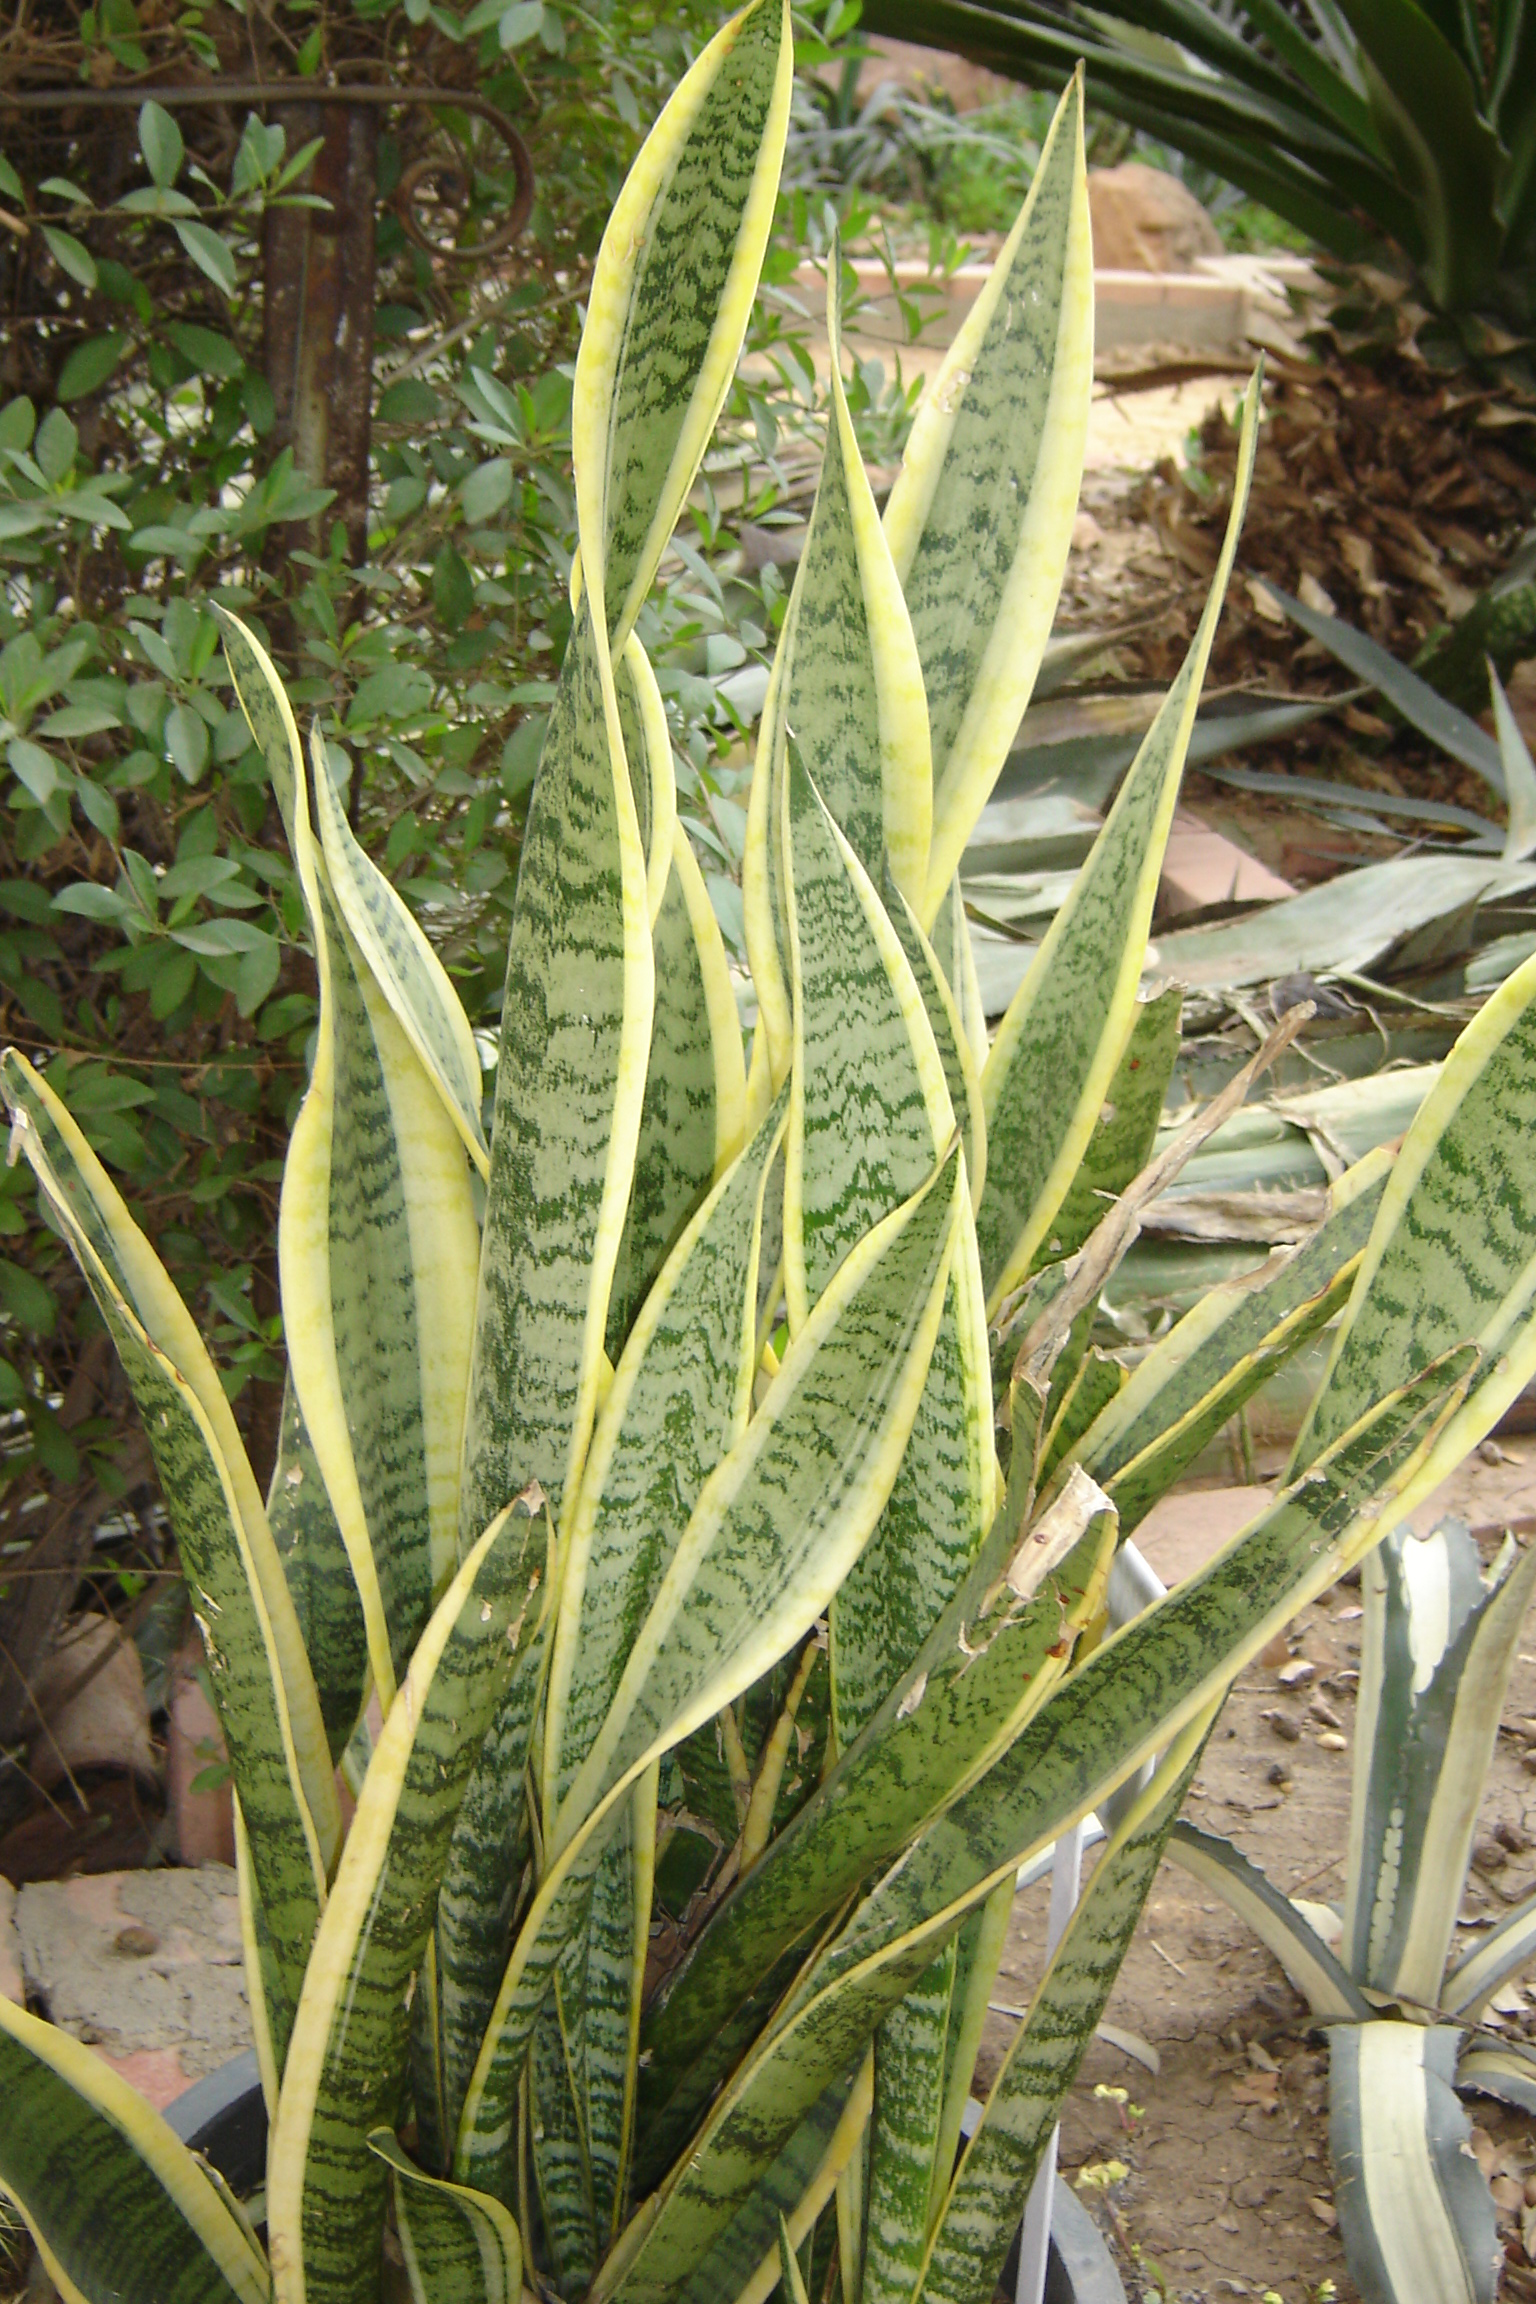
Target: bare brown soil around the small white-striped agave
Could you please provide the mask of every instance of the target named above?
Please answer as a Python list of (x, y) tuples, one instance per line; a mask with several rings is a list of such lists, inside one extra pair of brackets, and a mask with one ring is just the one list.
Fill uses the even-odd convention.
[[(1485, 1445), (1414, 1523), (1428, 1530), (1444, 1511), (1472, 1525), (1485, 1560), (1511, 1521), (1536, 1528), (1536, 1442)], [(1536, 1889), (1536, 1620), (1527, 1638), (1474, 1836), (1478, 1855), (1462, 1896), (1472, 1924), (1501, 1917)], [(1299, 1689), (1278, 1680), (1292, 1657), (1315, 1666)], [(1234, 1839), (1287, 1894), (1315, 1903), (1343, 1898), (1356, 1663), (1359, 1587), (1343, 1583), (1241, 1675), (1186, 1809), (1204, 1829)], [(1345, 1749), (1322, 1737), (1343, 1737)], [(997, 2002), (1027, 2007), (1043, 1965), (1048, 1901), (1048, 1882), (1018, 1898)], [(1474, 1940), (1476, 1926), (1458, 1935), (1462, 1947)], [(1331, 2281), (1338, 2304), (1356, 2304), (1336, 2233), (1322, 2037), (1273, 1956), (1172, 1864), (1163, 1864), (1147, 1898), (1105, 2021), (1140, 2034), (1158, 2071), (1094, 2041), (1062, 2122), (1062, 2168), (1110, 2237), (1126, 2295), (1138, 2304), (1322, 2304)], [(1508, 2014), (1495, 2023), (1536, 2034), (1536, 2009), (1511, 1993)], [(988, 2021), (981, 2087), (1011, 2030), (1006, 2016)], [(1101, 2087), (1128, 2090), (1128, 2106), (1140, 2110), (1096, 2094)], [(1478, 2159), (1504, 2177), (1495, 2196), (1511, 2203), (1501, 2210), (1499, 2295), (1524, 2304), (1536, 2297), (1536, 2272), (1515, 2203), (1536, 2168), (1536, 2131), (1488, 2099), (1472, 2101), (1469, 2113)], [(1085, 2170), (1110, 2161), (1128, 2170), (1121, 2182), (1082, 2182)]]

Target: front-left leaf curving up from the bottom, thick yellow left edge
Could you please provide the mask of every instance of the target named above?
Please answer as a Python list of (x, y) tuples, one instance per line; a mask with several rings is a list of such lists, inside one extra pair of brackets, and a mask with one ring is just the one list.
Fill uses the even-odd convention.
[(267, 2152), (281, 2304), (350, 2304), (378, 2288), (385, 2168), (368, 2136), (398, 2117), (410, 1988), (454, 1818), (546, 1571), (523, 1505), (465, 1555), (421, 1634), (373, 1746), (292, 2028)]

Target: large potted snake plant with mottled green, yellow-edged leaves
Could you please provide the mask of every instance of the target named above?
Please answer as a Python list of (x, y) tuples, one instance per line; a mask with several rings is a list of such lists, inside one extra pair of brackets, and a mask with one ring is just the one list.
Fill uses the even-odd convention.
[[(1225, 1687), (1536, 1369), (1529, 970), (1391, 1175), (1340, 1180), (1313, 1242), (1128, 1385), (1089, 1350), (1177, 1159), (1140, 1175), (1179, 998), (1138, 977), (1237, 530), (988, 1051), (956, 866), (1078, 495), (1080, 81), (884, 521), (834, 378), (758, 751), (746, 1062), (640, 629), (742, 343), (790, 60), (753, 0), (603, 240), (488, 1145), (454, 991), (226, 617), (320, 975), (265, 1505), (147, 1240), (5, 1058), (203, 1624), (272, 2117), (239, 2205), (0, 2004), (0, 2186), (67, 2297), (760, 2304), (804, 2274), (983, 2304)], [(836, 318), (834, 267), (834, 357)], [(1306, 1472), (1105, 1636), (1117, 1530), (1345, 1297)], [(1156, 1756), (956, 2163), (1016, 1871)]]

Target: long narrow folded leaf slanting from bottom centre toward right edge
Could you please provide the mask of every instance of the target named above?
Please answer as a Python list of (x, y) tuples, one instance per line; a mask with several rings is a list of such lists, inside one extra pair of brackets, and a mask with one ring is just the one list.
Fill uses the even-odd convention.
[(1448, 1355), (1393, 1394), (1200, 1576), (1094, 1650), (981, 1783), (921, 1832), (785, 1995), (633, 2249), (622, 2246), (617, 2269), (599, 2274), (594, 2304), (672, 2297), (965, 1912), (1179, 1735), (1308, 1597), (1377, 1541), (1377, 1488), (1396, 1477), (1412, 1493), (1414, 1481), (1442, 1477), (1437, 1442), (1455, 1428), (1472, 1366), (1472, 1352)]

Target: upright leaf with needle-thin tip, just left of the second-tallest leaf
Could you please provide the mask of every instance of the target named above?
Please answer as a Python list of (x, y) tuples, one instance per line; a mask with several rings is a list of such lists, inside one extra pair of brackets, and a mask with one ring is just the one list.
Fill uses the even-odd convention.
[[(792, 730), (868, 880), (921, 903), (933, 816), (928, 698), (891, 548), (854, 438), (841, 357), (841, 251), (827, 265), (831, 422), (762, 703), (742, 896), (774, 1083), (790, 1067), (783, 776)], [(801, 641), (804, 634), (804, 641)]]

